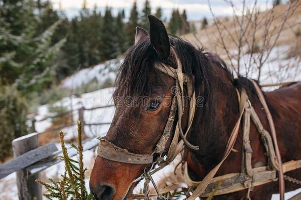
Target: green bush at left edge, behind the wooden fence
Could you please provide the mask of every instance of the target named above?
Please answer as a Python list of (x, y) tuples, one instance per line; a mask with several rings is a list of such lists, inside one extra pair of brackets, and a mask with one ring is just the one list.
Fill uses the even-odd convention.
[(27, 133), (26, 100), (13, 86), (0, 85), (0, 160), (11, 155), (11, 141)]

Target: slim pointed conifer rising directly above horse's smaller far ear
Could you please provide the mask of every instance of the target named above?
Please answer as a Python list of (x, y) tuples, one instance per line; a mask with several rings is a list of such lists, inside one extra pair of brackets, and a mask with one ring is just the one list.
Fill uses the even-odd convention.
[(137, 4), (136, 1), (134, 1), (128, 23), (125, 27), (127, 47), (134, 45), (136, 27), (139, 26), (138, 20)]

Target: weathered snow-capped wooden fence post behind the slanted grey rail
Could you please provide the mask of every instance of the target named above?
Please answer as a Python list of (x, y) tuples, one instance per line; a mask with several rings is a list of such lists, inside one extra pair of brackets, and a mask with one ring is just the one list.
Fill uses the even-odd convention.
[[(39, 147), (38, 133), (31, 133), (12, 141), (14, 158)], [(16, 172), (19, 200), (33, 200), (35, 197), (42, 200), (42, 187), (36, 183), (40, 174), (29, 174), (27, 169)]]

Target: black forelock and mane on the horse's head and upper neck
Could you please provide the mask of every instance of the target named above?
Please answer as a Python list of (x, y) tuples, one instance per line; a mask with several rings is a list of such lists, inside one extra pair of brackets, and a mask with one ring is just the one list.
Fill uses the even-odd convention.
[[(210, 94), (210, 78), (212, 77), (209, 62), (214, 62), (227, 71), (226, 64), (218, 57), (210, 53), (204, 53), (203, 49), (195, 48), (188, 41), (175, 36), (170, 36), (170, 43), (176, 50), (182, 61), (183, 72), (189, 77), (195, 77), (196, 95), (202, 93), (204, 98)], [(115, 82), (114, 95), (117, 96), (144, 96), (151, 93), (152, 87), (150, 79), (157, 76), (154, 70), (154, 63), (164, 62), (176, 67), (175, 59), (159, 60), (150, 38), (132, 46), (120, 66)], [(164, 85), (163, 80), (159, 80), (158, 85)]]

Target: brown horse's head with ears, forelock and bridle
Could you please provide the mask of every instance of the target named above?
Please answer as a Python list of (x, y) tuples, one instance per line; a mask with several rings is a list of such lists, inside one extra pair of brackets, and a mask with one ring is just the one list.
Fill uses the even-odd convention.
[[(199, 105), (204, 103), (203, 99), (195, 99), (194, 92), (206, 94), (206, 88), (202, 87), (206, 71), (199, 66), (207, 60), (187, 41), (169, 36), (159, 19), (150, 15), (149, 21), (150, 34), (136, 28), (135, 44), (127, 51), (118, 71), (113, 93), (115, 114), (106, 137), (101, 140), (100, 156), (90, 177), (90, 189), (98, 200), (130, 198), (137, 185), (134, 180), (167, 154), (173, 140), (178, 143), (182, 137), (187, 146), (197, 149), (196, 142), (190, 144), (182, 130), (188, 132), (193, 120), (195, 108), (189, 104), (190, 97), (194, 96)], [(185, 97), (189, 98), (184, 100)], [(181, 109), (175, 109), (175, 105)], [(177, 121), (181, 131), (175, 138)], [(167, 123), (170, 135), (164, 136), (163, 141)], [(128, 156), (127, 152), (133, 155)], [(141, 161), (139, 155), (149, 161)]]

